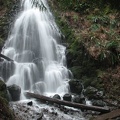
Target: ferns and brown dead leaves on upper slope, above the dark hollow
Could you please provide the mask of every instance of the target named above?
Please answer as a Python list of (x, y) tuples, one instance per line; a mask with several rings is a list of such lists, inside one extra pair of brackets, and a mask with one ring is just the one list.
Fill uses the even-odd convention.
[[(110, 66), (120, 62), (120, 1), (57, 0), (54, 2), (58, 9), (64, 12), (58, 22), (60, 27), (64, 26), (62, 32), (66, 38), (69, 42), (72, 41), (71, 51), (75, 53), (76, 45), (82, 41), (89, 53), (99, 62), (107, 61)], [(73, 35), (70, 36), (72, 32), (75, 33), (76, 40)]]

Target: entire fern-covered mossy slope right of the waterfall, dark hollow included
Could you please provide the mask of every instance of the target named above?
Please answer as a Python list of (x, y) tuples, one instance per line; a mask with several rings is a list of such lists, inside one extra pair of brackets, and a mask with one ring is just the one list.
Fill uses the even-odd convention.
[(52, 0), (51, 6), (74, 77), (120, 99), (111, 94), (120, 88), (120, 1)]

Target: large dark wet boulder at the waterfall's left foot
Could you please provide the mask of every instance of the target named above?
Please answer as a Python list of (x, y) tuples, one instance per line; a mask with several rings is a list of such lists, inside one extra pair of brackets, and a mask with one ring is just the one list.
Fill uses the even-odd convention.
[(20, 100), (21, 88), (15, 84), (8, 86), (8, 91), (11, 95), (12, 101)]

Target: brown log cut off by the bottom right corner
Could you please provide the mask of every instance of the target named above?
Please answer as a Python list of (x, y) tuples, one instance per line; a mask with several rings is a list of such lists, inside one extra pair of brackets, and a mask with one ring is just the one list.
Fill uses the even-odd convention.
[(109, 113), (103, 114), (95, 118), (94, 120), (111, 120), (120, 117), (120, 109), (113, 110)]

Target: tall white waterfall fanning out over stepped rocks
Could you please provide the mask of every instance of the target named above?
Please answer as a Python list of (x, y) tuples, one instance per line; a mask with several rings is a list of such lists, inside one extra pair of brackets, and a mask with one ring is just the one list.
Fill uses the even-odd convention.
[[(14, 62), (8, 85), (39, 94), (68, 92), (65, 47), (46, 0), (22, 0), (2, 53)], [(13, 63), (12, 63), (13, 64)]]

